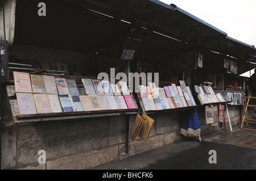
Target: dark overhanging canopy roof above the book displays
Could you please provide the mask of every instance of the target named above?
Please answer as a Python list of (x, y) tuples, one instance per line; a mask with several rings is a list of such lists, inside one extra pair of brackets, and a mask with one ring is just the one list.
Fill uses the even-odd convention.
[[(188, 12), (156, 0), (17, 0), (15, 42), (119, 58), (127, 37), (140, 39), (135, 60), (172, 64), (175, 52), (200, 50), (204, 67), (223, 58), (256, 62), (253, 46)], [(205, 66), (206, 65), (206, 66)], [(254, 68), (242, 66), (240, 73)]]

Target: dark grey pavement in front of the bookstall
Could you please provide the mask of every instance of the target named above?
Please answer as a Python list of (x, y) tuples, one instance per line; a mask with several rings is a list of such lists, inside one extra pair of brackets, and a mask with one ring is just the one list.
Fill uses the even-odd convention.
[(256, 131), (232, 127), (146, 151), (90, 170), (255, 170)]

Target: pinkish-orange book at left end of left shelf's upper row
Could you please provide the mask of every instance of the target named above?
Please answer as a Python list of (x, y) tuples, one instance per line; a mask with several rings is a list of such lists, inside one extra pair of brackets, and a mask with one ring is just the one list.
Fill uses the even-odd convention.
[(14, 71), (13, 78), (14, 78), (15, 92), (32, 93), (29, 73)]

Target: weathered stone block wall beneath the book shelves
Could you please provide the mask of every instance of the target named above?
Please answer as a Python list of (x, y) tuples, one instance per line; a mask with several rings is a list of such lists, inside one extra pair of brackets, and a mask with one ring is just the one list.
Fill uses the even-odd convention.
[[(229, 107), (232, 125), (241, 121), (237, 108)], [(197, 111), (202, 134), (223, 128), (206, 125), (203, 108)], [(14, 124), (2, 129), (2, 169), (89, 169), (127, 158), (181, 140), (183, 113), (150, 114), (155, 124), (148, 140), (129, 142), (129, 153), (124, 116)], [(130, 133), (135, 115), (129, 121)], [(46, 151), (46, 164), (38, 163), (39, 150)]]

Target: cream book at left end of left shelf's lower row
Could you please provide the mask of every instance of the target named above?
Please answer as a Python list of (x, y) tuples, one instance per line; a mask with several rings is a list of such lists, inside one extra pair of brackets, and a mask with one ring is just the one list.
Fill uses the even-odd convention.
[(20, 115), (37, 113), (32, 93), (16, 92), (16, 98)]

